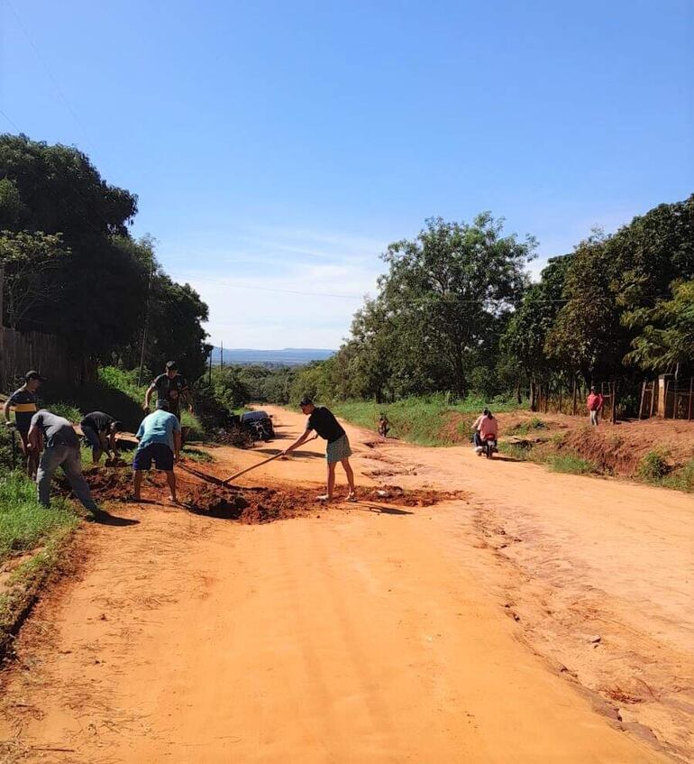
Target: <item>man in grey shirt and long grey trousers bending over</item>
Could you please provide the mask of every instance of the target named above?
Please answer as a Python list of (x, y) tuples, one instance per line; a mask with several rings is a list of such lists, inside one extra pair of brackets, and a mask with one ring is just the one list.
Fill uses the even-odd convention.
[(82, 474), (79, 440), (72, 423), (68, 422), (68, 419), (41, 409), (32, 416), (29, 442), (37, 454), (43, 451), (36, 473), (39, 502), (44, 507), (50, 506), (50, 480), (58, 467), (62, 467), (82, 506), (86, 510), (96, 512), (96, 502), (92, 499), (89, 486)]

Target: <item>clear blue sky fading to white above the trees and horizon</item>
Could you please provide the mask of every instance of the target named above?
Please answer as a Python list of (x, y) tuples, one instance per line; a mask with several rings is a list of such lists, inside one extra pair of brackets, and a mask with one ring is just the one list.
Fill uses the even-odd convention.
[(694, 190), (691, 0), (0, 0), (0, 24), (0, 130), (137, 193), (217, 345), (339, 345), (427, 216), (504, 216), (537, 272)]

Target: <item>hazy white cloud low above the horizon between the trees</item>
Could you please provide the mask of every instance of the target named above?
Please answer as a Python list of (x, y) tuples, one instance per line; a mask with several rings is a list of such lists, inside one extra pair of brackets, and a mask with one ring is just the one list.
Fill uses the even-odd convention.
[(264, 238), (237, 236), (225, 246), (197, 244), (185, 257), (182, 248), (164, 245), (160, 259), (209, 306), (206, 329), (215, 345), (336, 348), (363, 296), (376, 291), (385, 246), (346, 235), (273, 230)]

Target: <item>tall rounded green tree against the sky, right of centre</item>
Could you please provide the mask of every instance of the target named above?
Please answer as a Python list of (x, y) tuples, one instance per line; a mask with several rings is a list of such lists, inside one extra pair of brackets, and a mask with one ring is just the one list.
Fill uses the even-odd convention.
[(432, 218), (415, 240), (390, 244), (378, 299), (406, 361), (399, 374), (465, 394), (468, 370), (494, 345), (523, 295), (536, 245), (532, 237), (519, 242), (502, 233), (503, 221), (489, 213), (472, 225)]

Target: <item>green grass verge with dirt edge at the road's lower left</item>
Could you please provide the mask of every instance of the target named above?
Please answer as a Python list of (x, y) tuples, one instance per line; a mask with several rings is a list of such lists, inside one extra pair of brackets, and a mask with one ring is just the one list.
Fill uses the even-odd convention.
[(46, 509), (24, 474), (0, 475), (0, 656), (62, 560), (78, 524), (66, 499), (55, 497)]

